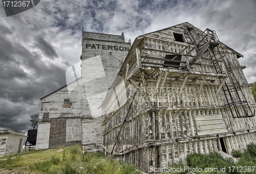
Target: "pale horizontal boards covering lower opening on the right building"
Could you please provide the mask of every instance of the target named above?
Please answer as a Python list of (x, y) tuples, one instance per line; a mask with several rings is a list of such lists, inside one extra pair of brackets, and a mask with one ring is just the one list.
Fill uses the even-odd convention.
[(221, 114), (218, 115), (197, 115), (198, 135), (217, 134), (227, 132), (226, 124)]

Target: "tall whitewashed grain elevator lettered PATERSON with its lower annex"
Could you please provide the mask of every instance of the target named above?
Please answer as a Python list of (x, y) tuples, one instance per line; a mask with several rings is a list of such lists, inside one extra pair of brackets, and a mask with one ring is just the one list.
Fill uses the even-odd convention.
[[(81, 78), (72, 67), (74, 81), (41, 98), (36, 149), (76, 143), (88, 151), (101, 150), (101, 109), (131, 42), (124, 35), (82, 32)], [(72, 74), (73, 73), (73, 74)]]

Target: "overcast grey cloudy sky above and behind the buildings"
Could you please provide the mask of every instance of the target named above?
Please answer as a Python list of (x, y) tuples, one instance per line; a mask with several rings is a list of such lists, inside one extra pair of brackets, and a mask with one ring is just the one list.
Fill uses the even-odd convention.
[(65, 72), (80, 61), (84, 31), (121, 35), (125, 41), (187, 21), (215, 30), (244, 57), (256, 81), (256, 1), (48, 1), (6, 17), (0, 4), (0, 126), (27, 132), (40, 98), (66, 85)]

